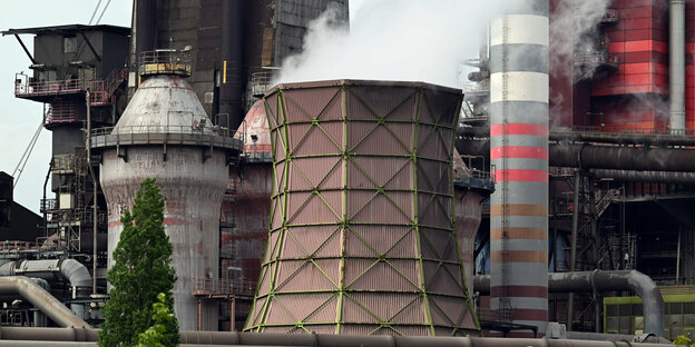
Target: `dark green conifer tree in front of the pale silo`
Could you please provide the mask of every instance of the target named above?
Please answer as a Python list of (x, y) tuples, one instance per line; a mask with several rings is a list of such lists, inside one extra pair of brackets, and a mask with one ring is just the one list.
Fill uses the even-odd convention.
[[(172, 289), (176, 271), (170, 265), (173, 248), (164, 232), (164, 197), (151, 178), (140, 184), (133, 211), (120, 218), (124, 225), (114, 250), (116, 264), (107, 274), (112, 286), (104, 307), (99, 346), (133, 346), (138, 336), (154, 325), (153, 304), (164, 293), (164, 304), (174, 313)], [(164, 346), (179, 341), (176, 317), (164, 321)]]

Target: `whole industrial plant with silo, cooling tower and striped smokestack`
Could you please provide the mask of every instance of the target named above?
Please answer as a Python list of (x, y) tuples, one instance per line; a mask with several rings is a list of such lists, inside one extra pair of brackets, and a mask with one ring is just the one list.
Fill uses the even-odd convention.
[(131, 28), (7, 29), (52, 159), (42, 217), (0, 172), (0, 343), (95, 341), (147, 177), (183, 344), (693, 338), (695, 3), (516, 2), (463, 93), (273, 86), (348, 0), (135, 0)]

